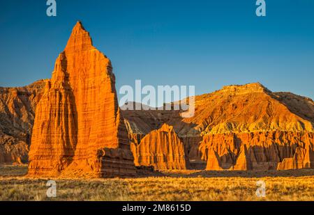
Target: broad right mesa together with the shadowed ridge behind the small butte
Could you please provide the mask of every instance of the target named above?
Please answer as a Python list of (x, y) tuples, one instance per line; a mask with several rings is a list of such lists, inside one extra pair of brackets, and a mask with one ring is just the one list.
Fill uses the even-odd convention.
[(180, 111), (123, 114), (135, 128), (130, 130), (141, 136), (163, 123), (172, 125), (184, 143), (189, 168), (314, 168), (314, 102), (292, 93), (272, 93), (260, 83), (196, 96), (192, 118), (181, 118)]

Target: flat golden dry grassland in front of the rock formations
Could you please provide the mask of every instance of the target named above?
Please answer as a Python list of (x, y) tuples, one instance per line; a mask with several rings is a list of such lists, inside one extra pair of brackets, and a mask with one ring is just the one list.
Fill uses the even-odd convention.
[[(56, 179), (57, 198), (47, 198), (48, 179), (16, 176), (25, 173), (25, 167), (19, 168), (0, 167), (0, 200), (314, 200), (314, 170), (265, 172), (261, 177), (185, 170), (126, 179)], [(259, 180), (266, 183), (265, 198), (255, 194)]]

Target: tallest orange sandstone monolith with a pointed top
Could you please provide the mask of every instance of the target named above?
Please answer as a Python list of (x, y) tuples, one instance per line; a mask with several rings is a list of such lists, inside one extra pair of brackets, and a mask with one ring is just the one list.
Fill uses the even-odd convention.
[(114, 84), (110, 60), (77, 22), (36, 107), (28, 175), (135, 175)]

